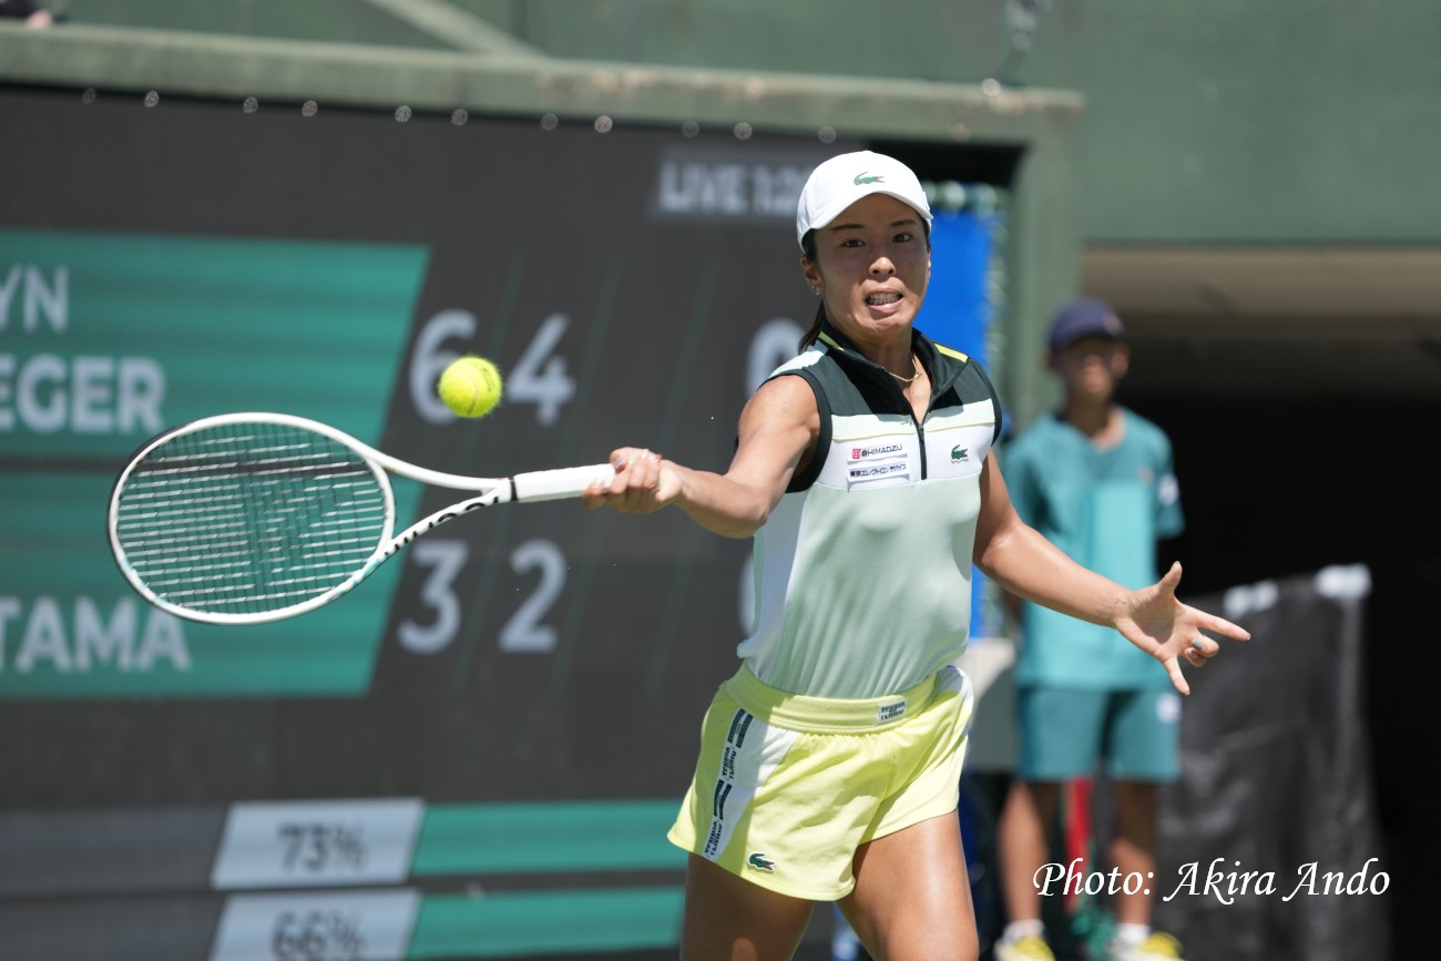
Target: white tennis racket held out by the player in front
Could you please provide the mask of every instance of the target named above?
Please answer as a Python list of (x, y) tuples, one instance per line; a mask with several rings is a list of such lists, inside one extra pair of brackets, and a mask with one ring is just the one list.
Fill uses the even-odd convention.
[[(389, 474), (476, 496), (395, 533)], [(305, 418), (222, 414), (166, 431), (131, 457), (110, 496), (110, 545), (156, 607), (192, 621), (259, 624), (330, 604), (452, 517), (579, 497), (611, 477), (608, 464), (442, 474)]]

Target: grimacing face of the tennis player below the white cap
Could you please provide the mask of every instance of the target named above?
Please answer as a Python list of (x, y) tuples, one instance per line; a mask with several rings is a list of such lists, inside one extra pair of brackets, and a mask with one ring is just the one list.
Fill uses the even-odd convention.
[(925, 300), (931, 243), (911, 205), (872, 193), (816, 231), (816, 261), (801, 258), (806, 280), (820, 285), (826, 313), (857, 343), (902, 331)]

